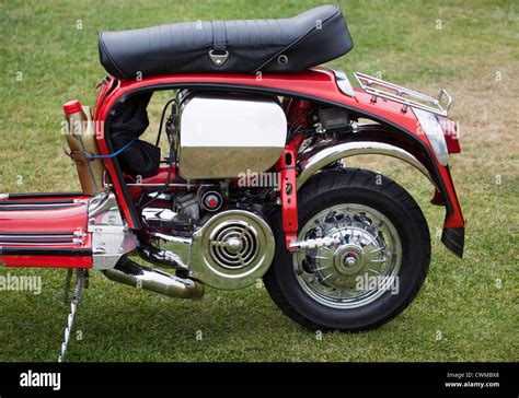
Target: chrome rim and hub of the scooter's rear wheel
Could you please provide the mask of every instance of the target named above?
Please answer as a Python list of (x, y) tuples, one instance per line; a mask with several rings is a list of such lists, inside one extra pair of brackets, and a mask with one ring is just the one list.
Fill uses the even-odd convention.
[(328, 307), (356, 308), (394, 289), (402, 243), (385, 215), (365, 204), (333, 206), (312, 216), (298, 237), (326, 236), (337, 244), (293, 255), (296, 278), (313, 300)]

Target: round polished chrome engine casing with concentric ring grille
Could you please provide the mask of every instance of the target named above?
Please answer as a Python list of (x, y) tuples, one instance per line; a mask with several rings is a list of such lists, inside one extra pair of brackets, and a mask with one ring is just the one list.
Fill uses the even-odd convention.
[(222, 290), (242, 289), (262, 278), (276, 245), (267, 222), (246, 210), (216, 214), (193, 239), (193, 278)]

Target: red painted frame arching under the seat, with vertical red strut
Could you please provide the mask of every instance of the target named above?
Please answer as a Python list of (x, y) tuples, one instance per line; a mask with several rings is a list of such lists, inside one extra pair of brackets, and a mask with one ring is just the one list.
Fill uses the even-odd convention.
[[(212, 89), (212, 90), (242, 90), (251, 92), (263, 92), (279, 95), (287, 95), (303, 99), (299, 104), (288, 104), (289, 122), (295, 121), (298, 106), (304, 106), (304, 101), (328, 103), (344, 107), (357, 115), (369, 117), (388, 126), (400, 130), (404, 134), (413, 138), (425, 149), (430, 157), (432, 169), (428, 166), (431, 175), (436, 175), (437, 183), (440, 184), (441, 196), (447, 207), (445, 229), (464, 227), (463, 214), (454, 190), (449, 166), (442, 166), (434, 155), (432, 148), (424, 134), (413, 112), (403, 112), (402, 105), (391, 101), (371, 101), (371, 95), (364, 91), (356, 90), (356, 96), (344, 94), (337, 86), (333, 71), (324, 68), (314, 68), (309, 71), (295, 74), (263, 74), (261, 79), (251, 74), (175, 74), (147, 78), (140, 81), (119, 81), (111, 78), (104, 84), (97, 98), (94, 109), (94, 120), (96, 121), (97, 144), (102, 154), (111, 153), (109, 140), (106, 140), (105, 125), (109, 119), (109, 113), (114, 106), (124, 102), (124, 98), (137, 92), (166, 90), (176, 87), (191, 89)], [(288, 145), (285, 153), (297, 151), (297, 148)], [(284, 153), (284, 155), (285, 155)], [(280, 162), (280, 163), (279, 163)], [(292, 172), (282, 167), (281, 174), (289, 178), (295, 178)], [(112, 159), (105, 160), (118, 203), (131, 229), (140, 229), (140, 221), (135, 214), (135, 210), (129, 202), (129, 191), (122, 178), (118, 164)], [(293, 192), (292, 192), (293, 194)], [(286, 194), (282, 194), (286, 196)], [(295, 194), (292, 195), (295, 196)], [(287, 199), (285, 197), (285, 199)], [(282, 200), (282, 198), (281, 198)], [(293, 210), (296, 208), (296, 212)], [(291, 201), (290, 206), (285, 203), (285, 226), (286, 232), (292, 236), (295, 215), (297, 214), (297, 202)], [(289, 224), (292, 224), (290, 226)], [(297, 225), (297, 224), (296, 224)]]

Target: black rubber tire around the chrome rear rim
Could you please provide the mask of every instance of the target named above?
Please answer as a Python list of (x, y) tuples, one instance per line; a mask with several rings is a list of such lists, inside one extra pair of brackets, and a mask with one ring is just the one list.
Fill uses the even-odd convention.
[(430, 261), (427, 222), (412, 196), (395, 182), (367, 169), (328, 169), (313, 176), (298, 192), (299, 226), (311, 216), (341, 203), (369, 206), (384, 214), (402, 243), (397, 277), (400, 292), (385, 292), (358, 308), (333, 308), (312, 298), (296, 279), (291, 254), (285, 247), (278, 213), (270, 218), (278, 237), (275, 260), (264, 277), (277, 306), (291, 319), (314, 330), (361, 331), (374, 329), (404, 311), (418, 293)]

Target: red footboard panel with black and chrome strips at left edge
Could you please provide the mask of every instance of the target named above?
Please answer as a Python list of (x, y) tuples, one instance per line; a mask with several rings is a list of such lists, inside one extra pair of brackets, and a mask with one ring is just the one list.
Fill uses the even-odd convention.
[(0, 262), (8, 267), (91, 268), (89, 197), (23, 195), (0, 200)]

